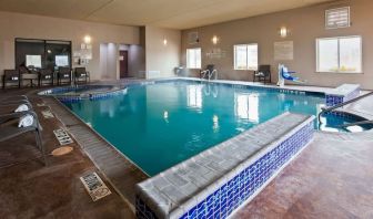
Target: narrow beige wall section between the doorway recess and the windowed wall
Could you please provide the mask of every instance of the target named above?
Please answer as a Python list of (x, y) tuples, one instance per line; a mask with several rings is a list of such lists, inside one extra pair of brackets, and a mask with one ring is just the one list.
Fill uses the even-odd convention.
[[(163, 40), (167, 39), (167, 45)], [(180, 65), (181, 31), (155, 27), (145, 27), (147, 71), (159, 71), (160, 75), (174, 76), (174, 67)]]

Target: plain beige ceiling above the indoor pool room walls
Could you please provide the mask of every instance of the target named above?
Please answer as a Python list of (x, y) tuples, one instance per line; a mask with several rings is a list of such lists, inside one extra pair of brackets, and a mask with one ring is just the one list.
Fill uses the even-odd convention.
[(0, 0), (0, 11), (189, 29), (333, 0)]

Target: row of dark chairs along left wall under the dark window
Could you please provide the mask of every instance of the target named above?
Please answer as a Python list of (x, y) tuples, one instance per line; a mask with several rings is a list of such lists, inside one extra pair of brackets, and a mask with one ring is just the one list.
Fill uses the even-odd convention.
[(90, 83), (90, 73), (85, 67), (59, 67), (57, 71), (50, 69), (23, 67), (23, 71), (4, 70), (2, 75), (2, 88), (23, 87), (23, 86), (53, 86)]

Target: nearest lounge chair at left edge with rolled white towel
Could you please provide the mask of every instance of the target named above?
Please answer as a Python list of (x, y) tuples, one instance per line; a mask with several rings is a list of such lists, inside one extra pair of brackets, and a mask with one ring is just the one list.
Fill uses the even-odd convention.
[[(18, 121), (21, 118), (21, 116), (24, 115), (31, 115), (33, 117), (33, 123), (30, 126), (27, 127), (18, 127)], [(41, 140), (41, 126), (39, 124), (38, 116), (34, 112), (28, 111), (17, 114), (7, 114), (7, 115), (0, 115), (0, 142), (6, 142), (12, 138), (16, 138), (20, 135), (23, 135), (26, 133), (33, 132), (36, 134), (36, 142), (38, 148), (41, 150), (43, 156), (44, 165), (47, 166), (47, 158), (46, 158), (46, 150)]]

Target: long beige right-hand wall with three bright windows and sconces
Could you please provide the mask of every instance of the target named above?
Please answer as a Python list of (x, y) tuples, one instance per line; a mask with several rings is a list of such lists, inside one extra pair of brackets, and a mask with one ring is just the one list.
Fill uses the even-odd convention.
[[(351, 6), (352, 27), (325, 30), (325, 9), (339, 6)], [(285, 25), (291, 30), (291, 34), (285, 41), (294, 41), (294, 60), (283, 63), (298, 71), (299, 76), (306, 80), (309, 85), (336, 86), (342, 83), (360, 83), (365, 88), (373, 88), (373, 62), (371, 61), (373, 59), (372, 9), (372, 0), (339, 1), (184, 30), (182, 31), (182, 64), (185, 65), (186, 62), (186, 48), (201, 46), (202, 66), (209, 63), (215, 64), (221, 79), (252, 81), (252, 72), (233, 70), (233, 45), (259, 43), (259, 62), (272, 65), (272, 79), (273, 82), (276, 82), (279, 61), (273, 58), (273, 43), (284, 41), (279, 36), (278, 30)], [(189, 45), (188, 33), (195, 30), (200, 35), (200, 43)], [(220, 42), (215, 46), (211, 42), (214, 34), (220, 38)], [(315, 39), (341, 35), (363, 36), (363, 74), (315, 73)], [(213, 48), (224, 50), (226, 56), (223, 59), (206, 58), (205, 53)], [(191, 71), (190, 75), (195, 75), (195, 72)]]

